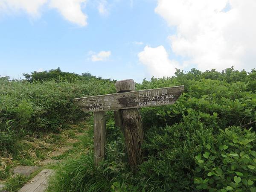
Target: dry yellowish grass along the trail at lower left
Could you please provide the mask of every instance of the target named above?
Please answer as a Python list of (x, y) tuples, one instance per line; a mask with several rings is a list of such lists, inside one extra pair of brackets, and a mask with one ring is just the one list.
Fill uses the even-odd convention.
[(49, 154), (52, 151), (58, 151), (59, 148), (67, 145), (71, 145), (73, 148), (65, 151), (57, 157), (51, 158), (57, 160), (68, 160), (76, 157), (77, 154), (85, 154), (86, 151), (88, 151), (85, 144), (92, 143), (92, 138), (90, 138), (91, 141), (89, 141), (87, 140), (87, 136), (83, 135), (84, 131), (87, 129), (87, 123), (82, 121), (77, 124), (70, 124), (69, 127), (69, 129), (64, 130), (60, 134), (33, 134), (23, 138), (23, 140), (18, 142), (18, 145), (20, 146), (20, 153), (17, 155), (14, 154), (14, 156), (6, 157), (4, 156), (5, 154), (2, 153), (0, 156), (0, 183), (6, 185), (6, 190), (9, 192), (16, 192), (42, 169), (57, 169), (61, 164), (56, 163), (41, 166), (41, 169), (34, 172), (29, 177), (14, 176), (11, 170), (16, 166), (40, 166), (39, 162), (50, 158)]

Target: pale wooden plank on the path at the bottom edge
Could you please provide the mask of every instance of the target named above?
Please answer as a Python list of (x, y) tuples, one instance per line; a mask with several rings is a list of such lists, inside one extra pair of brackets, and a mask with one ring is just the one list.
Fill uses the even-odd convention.
[(24, 185), (19, 192), (44, 192), (48, 187), (48, 179), (54, 175), (52, 169), (44, 169), (34, 178), (32, 178), (26, 185)]

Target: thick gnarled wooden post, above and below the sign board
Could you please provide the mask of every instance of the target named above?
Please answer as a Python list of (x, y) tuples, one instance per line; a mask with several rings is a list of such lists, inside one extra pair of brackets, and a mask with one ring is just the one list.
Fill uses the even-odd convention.
[[(116, 81), (116, 91), (135, 91), (135, 83), (132, 79)], [(120, 110), (121, 128), (125, 137), (125, 145), (128, 153), (128, 162), (133, 172), (142, 162), (143, 153), (141, 145), (144, 140), (143, 125), (140, 112), (137, 108)]]

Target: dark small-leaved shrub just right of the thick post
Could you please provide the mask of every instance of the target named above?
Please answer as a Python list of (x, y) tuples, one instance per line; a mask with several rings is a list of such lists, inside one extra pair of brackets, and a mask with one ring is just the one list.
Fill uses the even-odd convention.
[(215, 142), (212, 132), (196, 113), (183, 115), (179, 124), (148, 130), (147, 157), (138, 172), (141, 183), (148, 180), (146, 191), (194, 191), (194, 157), (206, 142)]

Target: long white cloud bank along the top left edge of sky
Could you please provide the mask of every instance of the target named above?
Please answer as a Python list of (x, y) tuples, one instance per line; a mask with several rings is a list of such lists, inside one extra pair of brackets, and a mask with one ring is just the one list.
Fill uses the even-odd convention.
[(17, 13), (25, 11), (32, 17), (41, 15), (40, 8), (57, 9), (61, 15), (68, 21), (79, 26), (87, 25), (87, 15), (81, 11), (81, 5), (87, 0), (0, 0), (0, 12)]

